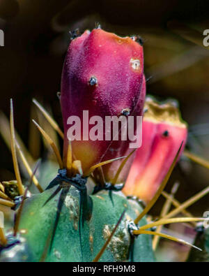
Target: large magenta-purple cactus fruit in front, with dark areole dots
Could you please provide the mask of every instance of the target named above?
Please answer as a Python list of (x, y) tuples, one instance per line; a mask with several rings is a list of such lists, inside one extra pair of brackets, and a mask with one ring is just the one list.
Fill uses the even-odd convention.
[[(113, 139), (105, 139), (105, 129), (98, 139), (89, 139), (88, 134), (93, 131), (93, 126), (88, 125), (88, 118), (100, 116), (104, 122), (107, 116), (141, 115), (145, 96), (145, 83), (142, 92), (143, 80), (143, 48), (134, 39), (93, 29), (72, 40), (65, 57), (61, 82), (64, 162), (68, 152), (69, 129), (74, 124), (68, 120), (70, 116), (81, 120), (81, 140), (72, 140), (72, 152), (74, 159), (82, 161), (84, 172), (110, 156), (121, 157), (127, 152), (130, 141), (120, 139), (114, 141), (114, 153), (111, 151)], [(90, 121), (90, 124), (96, 123)]]

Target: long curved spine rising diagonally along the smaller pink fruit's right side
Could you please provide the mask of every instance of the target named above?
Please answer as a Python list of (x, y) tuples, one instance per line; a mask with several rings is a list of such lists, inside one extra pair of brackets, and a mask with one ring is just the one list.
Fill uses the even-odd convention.
[(178, 149), (178, 152), (176, 154), (176, 157), (173, 159), (173, 163), (171, 164), (169, 171), (167, 175), (164, 177), (164, 180), (162, 180), (162, 184), (160, 184), (159, 189), (157, 190), (155, 196), (153, 199), (146, 205), (146, 208), (144, 208), (143, 212), (137, 217), (137, 219), (134, 220), (135, 224), (138, 224), (138, 222), (148, 213), (148, 211), (153, 207), (157, 199), (160, 197), (160, 194), (164, 190), (164, 187), (166, 187), (167, 182), (169, 181), (169, 178), (171, 176), (171, 173), (173, 171), (174, 166), (176, 165), (176, 161), (178, 159), (178, 155), (180, 154), (181, 147), (183, 146), (183, 142), (180, 144), (180, 147)]

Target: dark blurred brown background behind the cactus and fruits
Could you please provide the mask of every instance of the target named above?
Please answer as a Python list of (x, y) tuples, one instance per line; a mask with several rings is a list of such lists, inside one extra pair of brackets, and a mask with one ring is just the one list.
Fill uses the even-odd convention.
[[(5, 46), (0, 47), (0, 110), (8, 116), (13, 98), (15, 127), (32, 156), (42, 152), (29, 134), (34, 133), (31, 99), (50, 107), (62, 125), (56, 93), (69, 31), (93, 29), (95, 22), (118, 35), (139, 34), (144, 39), (148, 94), (178, 99), (189, 124), (187, 147), (209, 159), (209, 51), (203, 46), (203, 30), (209, 29), (208, 0), (0, 0), (0, 29), (5, 34)], [(0, 150), (0, 181), (13, 179), (12, 158), (2, 138)], [(183, 159), (167, 189), (179, 180), (176, 197), (183, 202), (208, 186), (208, 176), (208, 170)], [(194, 215), (209, 209), (208, 199), (191, 208)], [(153, 212), (159, 214), (159, 208)]]

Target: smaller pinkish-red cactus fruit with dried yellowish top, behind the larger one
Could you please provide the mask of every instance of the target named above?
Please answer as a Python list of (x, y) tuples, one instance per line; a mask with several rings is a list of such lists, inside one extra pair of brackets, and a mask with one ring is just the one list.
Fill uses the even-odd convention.
[(173, 102), (158, 104), (148, 98), (142, 126), (142, 146), (137, 149), (123, 192), (148, 202), (155, 195), (183, 141), (187, 124)]

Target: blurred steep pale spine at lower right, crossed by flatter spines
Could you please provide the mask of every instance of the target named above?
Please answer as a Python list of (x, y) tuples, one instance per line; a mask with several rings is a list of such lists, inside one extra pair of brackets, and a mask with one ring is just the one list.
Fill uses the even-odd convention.
[[(169, 212), (169, 210), (171, 209), (171, 205), (172, 205), (172, 199), (174, 198), (176, 191), (178, 190), (179, 187), (179, 183), (176, 182), (172, 189), (171, 189), (171, 195), (169, 198), (167, 198), (167, 200), (165, 201), (163, 207), (162, 207), (162, 211), (160, 213), (160, 218), (163, 219), (163, 217), (165, 215), (167, 215), (167, 213)], [(156, 229), (156, 232), (161, 232), (162, 231), (162, 225), (158, 226)], [(158, 242), (160, 240), (160, 236), (159, 235), (155, 235), (155, 237), (153, 238), (153, 250), (155, 251), (158, 245)]]

